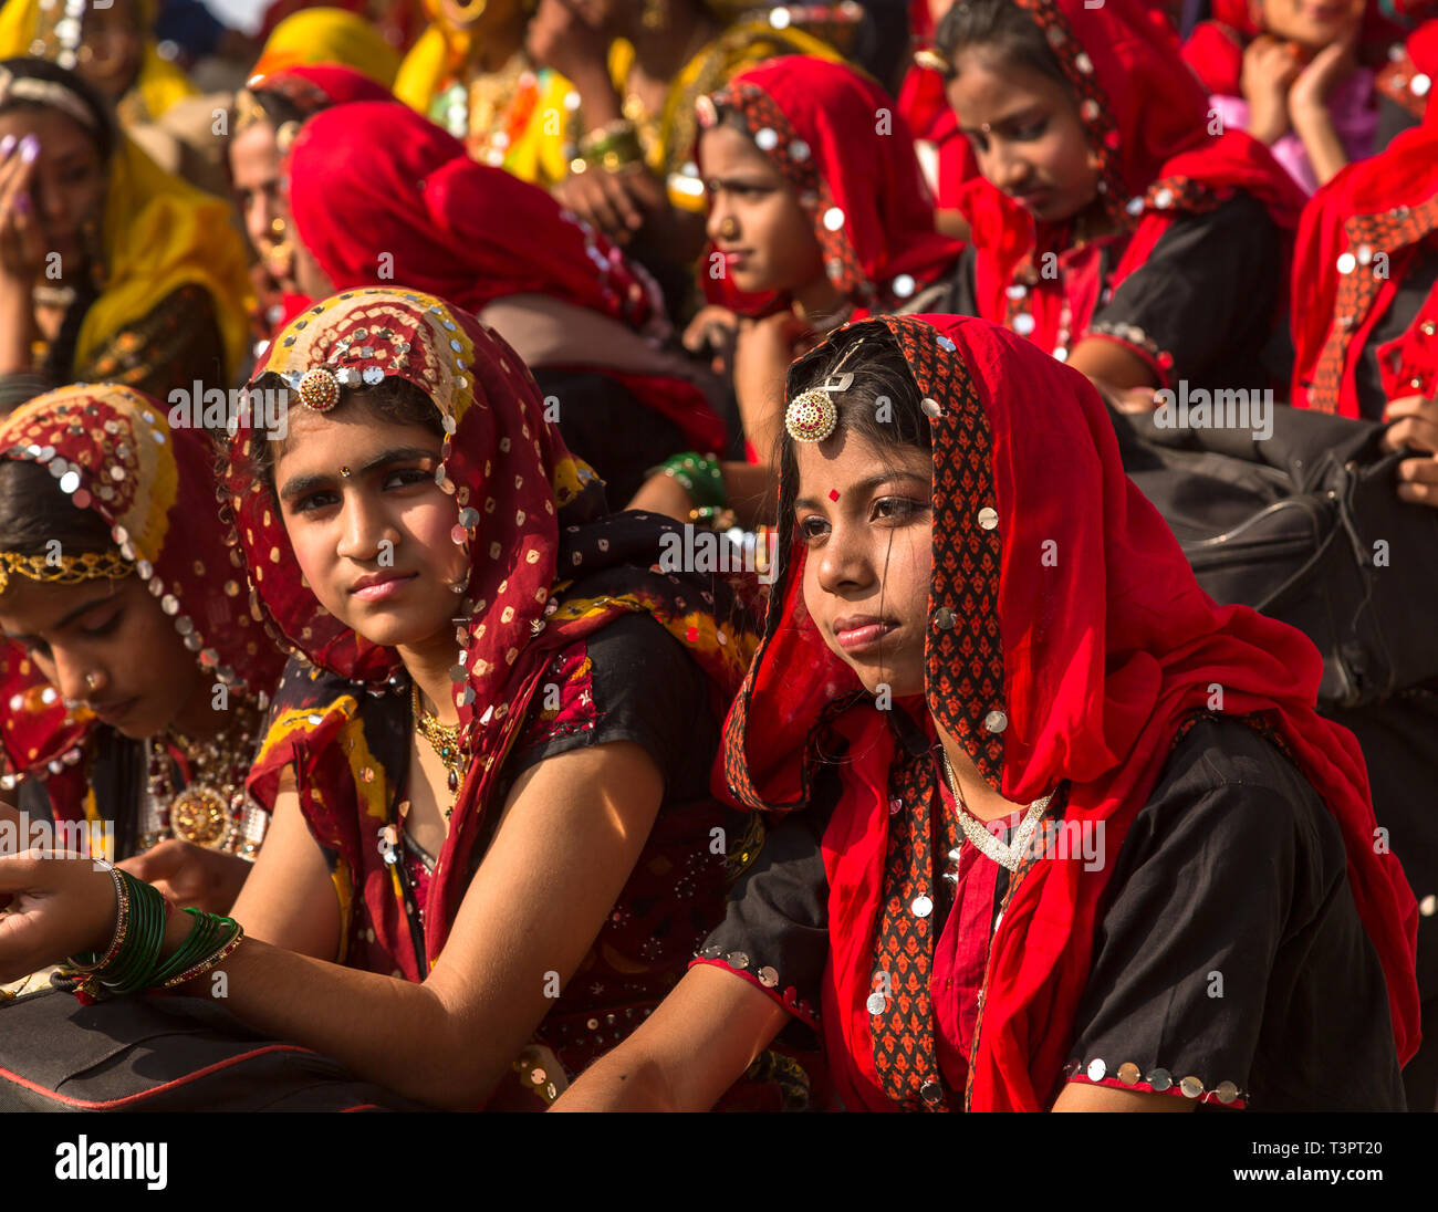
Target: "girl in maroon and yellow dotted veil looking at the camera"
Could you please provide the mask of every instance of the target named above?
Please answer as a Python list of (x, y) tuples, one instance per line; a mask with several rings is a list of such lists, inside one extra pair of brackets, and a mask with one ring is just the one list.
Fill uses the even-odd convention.
[[(226, 497), (293, 654), (249, 781), (272, 831), (233, 922), (200, 923), (213, 946), (171, 919), (151, 956), (132, 929), (86, 986), (191, 946), (262, 1032), (430, 1106), (542, 1108), (659, 1004), (754, 858), (709, 789), (756, 641), (745, 584), (608, 515), (513, 349), (430, 295), (306, 308), (255, 382), (276, 380), (288, 433), (242, 416)], [(0, 896), (0, 979), (115, 936), (88, 863), (10, 858)], [(791, 1062), (755, 1077), (766, 1107), (807, 1097)]]

